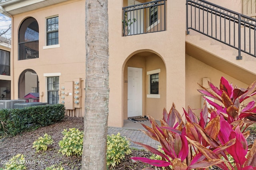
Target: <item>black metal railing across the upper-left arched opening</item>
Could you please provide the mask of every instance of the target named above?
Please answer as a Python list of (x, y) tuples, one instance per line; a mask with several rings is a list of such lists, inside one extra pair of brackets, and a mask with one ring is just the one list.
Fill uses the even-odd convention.
[(28, 41), (19, 43), (18, 60), (36, 59), (38, 58), (38, 41)]

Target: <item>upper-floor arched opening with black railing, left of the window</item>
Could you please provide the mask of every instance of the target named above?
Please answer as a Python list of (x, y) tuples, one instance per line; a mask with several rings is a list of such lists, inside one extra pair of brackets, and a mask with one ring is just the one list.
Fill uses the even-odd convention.
[(19, 28), (18, 60), (38, 58), (39, 27), (36, 19), (26, 18)]

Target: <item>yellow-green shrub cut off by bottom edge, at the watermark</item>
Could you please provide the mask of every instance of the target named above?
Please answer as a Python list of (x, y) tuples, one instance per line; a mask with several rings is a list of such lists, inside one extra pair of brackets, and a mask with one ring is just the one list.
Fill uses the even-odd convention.
[(7, 164), (4, 164), (4, 170), (25, 170), (25, 158), (23, 154), (17, 154), (7, 161)]

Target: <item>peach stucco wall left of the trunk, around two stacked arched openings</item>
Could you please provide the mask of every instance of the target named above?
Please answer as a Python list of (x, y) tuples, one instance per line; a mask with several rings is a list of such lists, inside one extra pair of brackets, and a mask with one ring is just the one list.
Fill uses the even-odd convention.
[[(85, 1), (70, 0), (14, 16), (12, 29), (14, 58), (14, 98), (18, 98), (18, 80), (22, 71), (32, 69), (40, 82), (40, 102), (47, 102), (45, 73), (60, 73), (60, 83), (85, 78)], [(76, 11), (76, 12), (72, 12)], [(59, 17), (59, 47), (46, 47), (46, 19)], [(18, 30), (22, 21), (33, 17), (39, 27), (39, 58), (18, 61)]]

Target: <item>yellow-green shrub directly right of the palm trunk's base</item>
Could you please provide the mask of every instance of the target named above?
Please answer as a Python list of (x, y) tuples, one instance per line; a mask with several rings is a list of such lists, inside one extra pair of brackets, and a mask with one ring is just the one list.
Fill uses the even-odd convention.
[(126, 154), (130, 154), (130, 142), (126, 137), (117, 135), (107, 136), (107, 165), (115, 167), (120, 163), (120, 160), (125, 158)]

